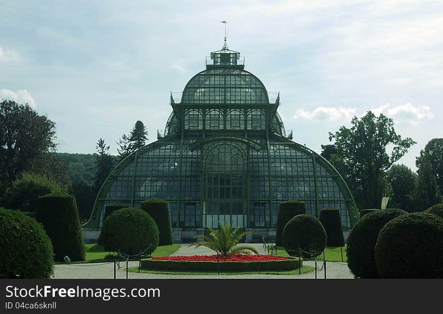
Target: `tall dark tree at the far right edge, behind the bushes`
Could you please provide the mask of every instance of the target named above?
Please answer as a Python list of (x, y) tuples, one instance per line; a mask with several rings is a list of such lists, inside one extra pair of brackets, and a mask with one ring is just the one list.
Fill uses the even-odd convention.
[(441, 194), (437, 180), (432, 170), (432, 163), (427, 153), (420, 154), (416, 159), (417, 166), (417, 190), (415, 195), (416, 211), (423, 211), (432, 205), (441, 202)]

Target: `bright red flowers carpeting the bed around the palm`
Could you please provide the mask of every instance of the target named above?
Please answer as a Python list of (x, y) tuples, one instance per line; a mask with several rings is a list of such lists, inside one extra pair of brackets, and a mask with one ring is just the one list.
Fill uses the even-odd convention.
[[(163, 261), (193, 261), (193, 262), (216, 262), (216, 255), (193, 255), (193, 256), (157, 256), (153, 257), (153, 260)], [(231, 257), (219, 256), (220, 262), (263, 262), (263, 261), (280, 261), (287, 260), (286, 257), (280, 257), (275, 255), (246, 255), (246, 254), (234, 254)]]

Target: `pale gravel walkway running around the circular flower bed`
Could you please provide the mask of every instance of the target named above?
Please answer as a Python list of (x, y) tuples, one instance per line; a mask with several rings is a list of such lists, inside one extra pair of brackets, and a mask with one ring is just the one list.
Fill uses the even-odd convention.
[[(267, 254), (263, 249), (262, 244), (251, 244), (260, 254)], [(187, 244), (181, 246), (181, 248), (175, 252), (177, 255), (211, 255), (215, 254), (214, 251), (209, 250), (206, 247), (189, 248)], [(315, 266), (315, 262), (305, 261), (304, 265)], [(123, 264), (122, 264), (123, 265)], [(138, 262), (129, 262), (129, 267), (137, 267)], [(318, 263), (318, 268), (322, 267), (321, 263)], [(55, 265), (54, 278), (86, 278), (86, 279), (113, 279), (114, 278), (114, 263), (90, 263), (90, 264), (64, 264)], [(117, 269), (117, 278), (126, 278), (126, 271), (124, 269)], [(346, 263), (327, 262), (326, 263), (326, 277), (328, 279), (345, 279), (353, 278)], [(245, 275), (166, 275), (166, 274), (146, 274), (146, 273), (128, 273), (129, 279), (314, 279), (315, 272), (310, 272), (302, 275), (267, 275), (267, 274), (245, 274)], [(324, 278), (324, 272), (318, 271), (317, 278)]]

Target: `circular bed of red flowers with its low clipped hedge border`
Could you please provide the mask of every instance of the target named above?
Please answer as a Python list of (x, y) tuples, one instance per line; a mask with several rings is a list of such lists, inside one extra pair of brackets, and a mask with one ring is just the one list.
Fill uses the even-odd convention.
[[(141, 268), (167, 271), (204, 272), (248, 272), (284, 271), (298, 269), (303, 259), (275, 255), (234, 254), (229, 258), (216, 255), (159, 256), (141, 260)], [(218, 264), (218, 265), (217, 265)]]

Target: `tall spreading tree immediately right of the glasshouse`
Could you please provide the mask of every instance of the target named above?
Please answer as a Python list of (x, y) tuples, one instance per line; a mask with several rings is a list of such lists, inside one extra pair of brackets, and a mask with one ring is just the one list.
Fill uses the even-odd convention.
[[(384, 114), (378, 117), (368, 111), (351, 120), (352, 127), (340, 127), (329, 132), (335, 140), (337, 153), (331, 163), (345, 176), (359, 208), (378, 208), (386, 184), (386, 171), (397, 162), (415, 142), (402, 139), (395, 132), (394, 122)], [(390, 154), (387, 146), (393, 146)]]

